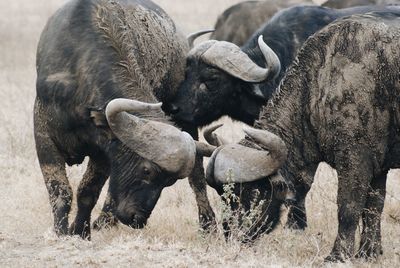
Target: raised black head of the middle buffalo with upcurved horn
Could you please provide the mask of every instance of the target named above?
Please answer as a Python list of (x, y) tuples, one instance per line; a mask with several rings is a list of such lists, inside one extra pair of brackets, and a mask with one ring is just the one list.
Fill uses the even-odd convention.
[(233, 43), (209, 40), (195, 46), (187, 57), (185, 80), (166, 112), (178, 123), (197, 126), (222, 115), (252, 123), (266, 100), (260, 83), (280, 72), (279, 58), (262, 36), (258, 46), (266, 67)]

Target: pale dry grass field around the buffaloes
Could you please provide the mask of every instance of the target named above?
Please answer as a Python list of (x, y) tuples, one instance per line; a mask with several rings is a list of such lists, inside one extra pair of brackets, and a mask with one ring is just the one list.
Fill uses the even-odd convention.
[[(277, 230), (254, 245), (225, 242), (221, 230), (199, 231), (197, 206), (187, 179), (165, 189), (148, 225), (133, 230), (119, 224), (93, 231), (91, 241), (58, 238), (33, 139), (35, 53), (40, 33), (63, 0), (0, 1), (0, 267), (399, 267), (400, 171), (388, 180), (382, 218), (383, 256), (372, 262), (325, 264), (337, 232), (336, 172), (320, 164), (307, 196), (308, 228)], [(239, 0), (155, 0), (185, 33), (213, 27), (216, 17)], [(223, 119), (217, 132), (230, 141), (244, 134)], [(85, 162), (86, 163), (86, 162)], [(85, 163), (67, 169), (76, 188)], [(100, 212), (106, 188), (93, 210)], [(222, 205), (208, 188), (217, 220)], [(75, 215), (72, 205), (70, 221)], [(360, 231), (358, 231), (359, 233)]]

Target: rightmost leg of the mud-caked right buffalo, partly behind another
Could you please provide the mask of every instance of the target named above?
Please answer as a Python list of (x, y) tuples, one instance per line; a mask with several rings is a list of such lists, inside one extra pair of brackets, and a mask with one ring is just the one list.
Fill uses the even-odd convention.
[(362, 213), (363, 231), (357, 257), (375, 258), (382, 254), (381, 215), (386, 194), (386, 174), (375, 177)]

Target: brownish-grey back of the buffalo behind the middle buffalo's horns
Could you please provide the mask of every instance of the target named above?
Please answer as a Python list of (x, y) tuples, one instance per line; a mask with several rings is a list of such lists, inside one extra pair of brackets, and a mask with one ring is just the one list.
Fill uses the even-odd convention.
[(242, 46), (250, 36), (276, 12), (311, 0), (245, 1), (226, 9), (218, 16), (210, 39), (232, 42)]

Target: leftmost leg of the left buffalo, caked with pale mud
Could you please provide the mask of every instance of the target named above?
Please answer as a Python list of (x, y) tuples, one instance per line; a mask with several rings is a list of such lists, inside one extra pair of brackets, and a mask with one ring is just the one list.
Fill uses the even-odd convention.
[(68, 214), (72, 189), (65, 171), (65, 161), (53, 141), (35, 126), (35, 141), (40, 168), (49, 193), (57, 235), (68, 234)]

